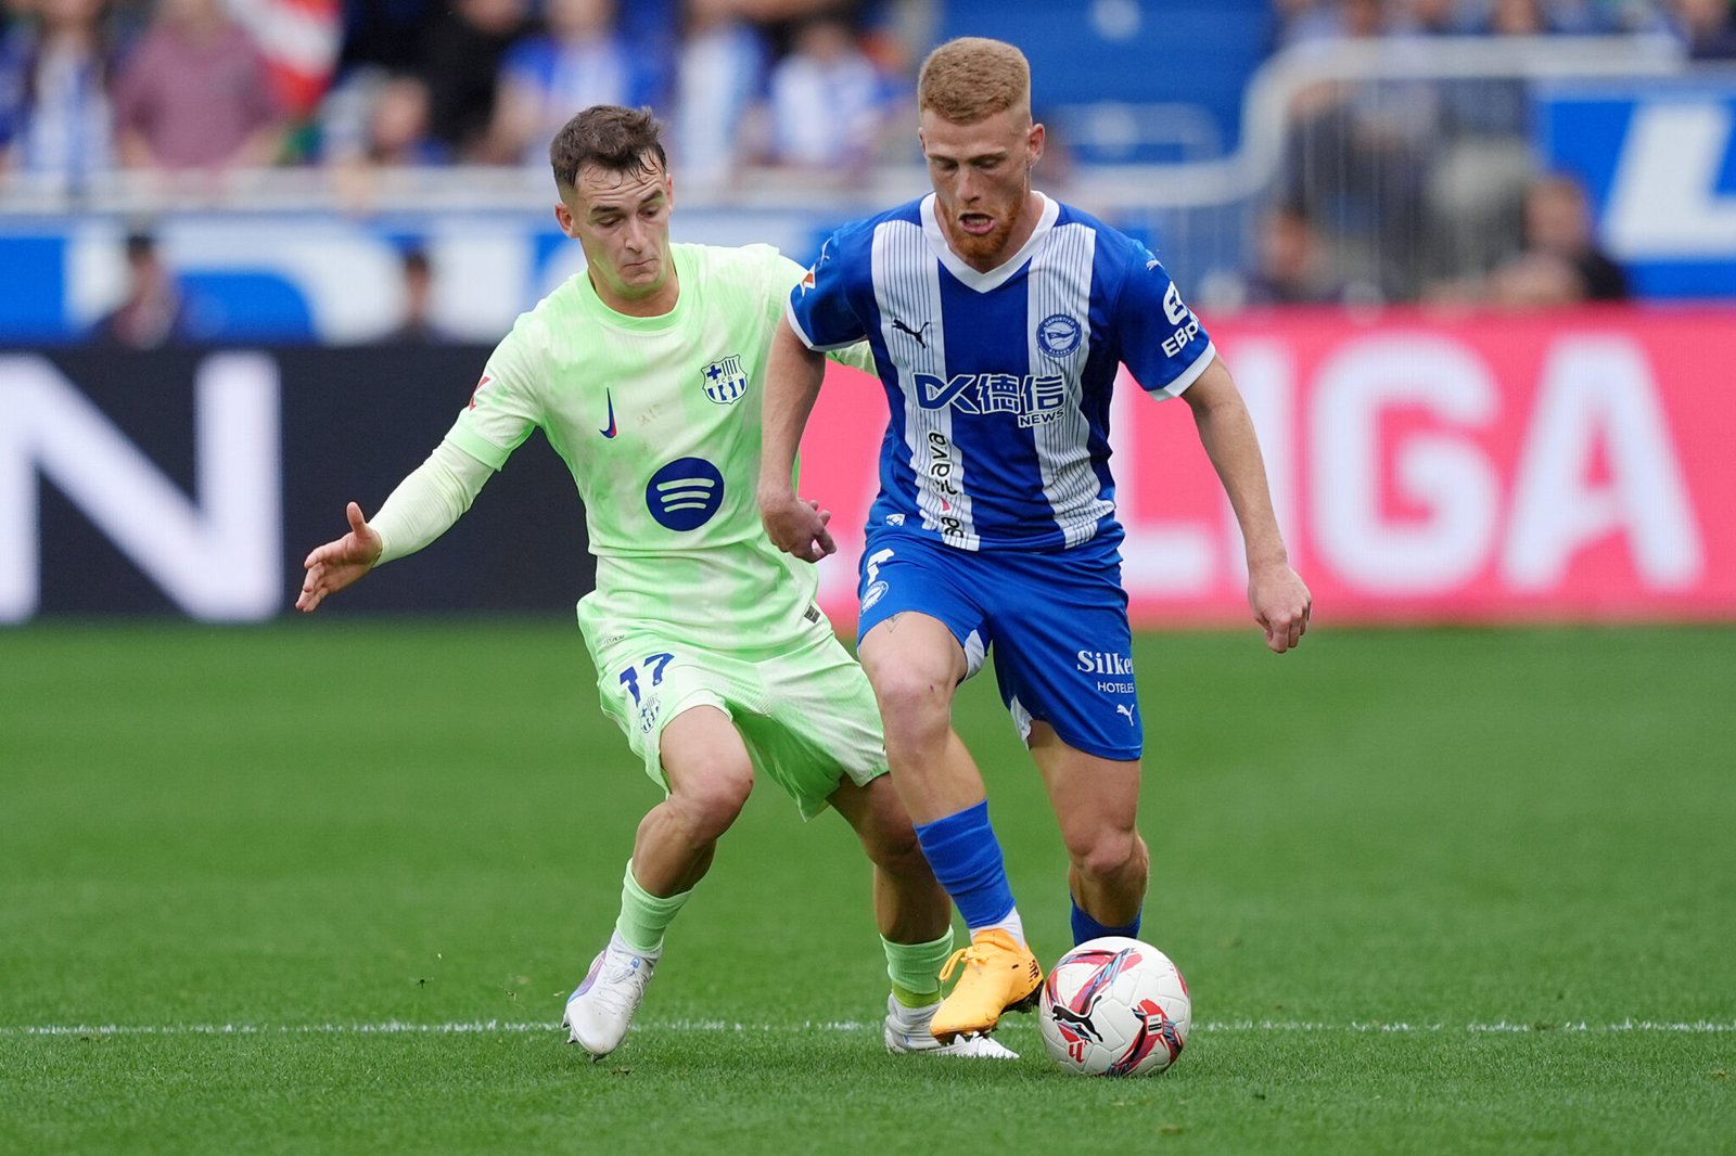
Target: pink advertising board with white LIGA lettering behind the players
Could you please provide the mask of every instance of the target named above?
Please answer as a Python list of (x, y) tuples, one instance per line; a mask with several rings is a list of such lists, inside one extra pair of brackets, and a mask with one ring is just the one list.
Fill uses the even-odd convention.
[[(1260, 430), (1318, 621), (1736, 616), (1736, 316), (1337, 311), (1207, 318)], [(802, 458), (854, 621), (885, 429), (878, 385), (833, 370)], [(1241, 540), (1186, 403), (1118, 387), (1111, 443), (1135, 625), (1248, 616)]]

